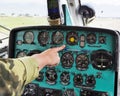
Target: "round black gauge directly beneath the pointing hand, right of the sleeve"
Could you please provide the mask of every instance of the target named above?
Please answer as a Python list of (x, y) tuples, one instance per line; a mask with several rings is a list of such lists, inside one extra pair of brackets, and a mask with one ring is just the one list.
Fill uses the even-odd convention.
[(54, 69), (49, 69), (46, 71), (46, 78), (49, 84), (55, 84), (57, 79), (57, 73)]

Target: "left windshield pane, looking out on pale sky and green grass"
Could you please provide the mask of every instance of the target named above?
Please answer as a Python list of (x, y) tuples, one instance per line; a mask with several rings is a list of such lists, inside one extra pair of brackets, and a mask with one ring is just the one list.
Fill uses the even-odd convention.
[(11, 29), (35, 25), (48, 25), (47, 0), (0, 1), (0, 48), (8, 45)]

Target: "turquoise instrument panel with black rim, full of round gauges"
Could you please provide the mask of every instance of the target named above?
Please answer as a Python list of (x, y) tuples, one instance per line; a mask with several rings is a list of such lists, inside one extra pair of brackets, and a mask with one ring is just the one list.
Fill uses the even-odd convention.
[(72, 26), (13, 29), (9, 57), (20, 58), (65, 44), (60, 63), (46, 66), (22, 96), (117, 96), (118, 33)]

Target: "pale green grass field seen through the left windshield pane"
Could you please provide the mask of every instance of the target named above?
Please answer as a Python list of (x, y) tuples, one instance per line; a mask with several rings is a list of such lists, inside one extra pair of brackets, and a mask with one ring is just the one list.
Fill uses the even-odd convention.
[[(23, 27), (23, 26), (38, 26), (38, 25), (48, 25), (48, 21), (46, 17), (12, 17), (12, 16), (4, 16), (0, 17), (0, 25), (5, 26), (9, 29), (13, 29), (15, 27)], [(0, 32), (5, 32), (5, 34), (9, 34), (9, 31), (0, 28)]]

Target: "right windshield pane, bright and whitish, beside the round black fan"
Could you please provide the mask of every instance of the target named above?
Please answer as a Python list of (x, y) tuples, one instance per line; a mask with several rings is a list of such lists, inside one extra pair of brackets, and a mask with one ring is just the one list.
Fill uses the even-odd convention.
[(81, 4), (95, 10), (96, 18), (89, 26), (120, 30), (119, 0), (82, 0)]

